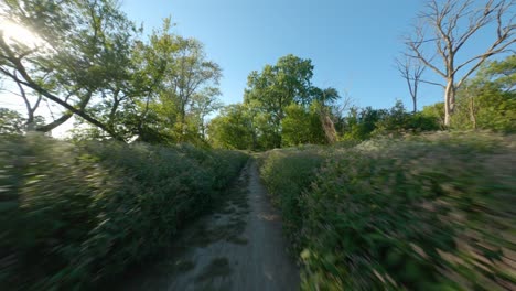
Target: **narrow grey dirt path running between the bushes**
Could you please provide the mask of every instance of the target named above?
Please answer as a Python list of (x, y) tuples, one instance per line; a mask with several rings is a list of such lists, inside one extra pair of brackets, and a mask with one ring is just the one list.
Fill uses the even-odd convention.
[(299, 290), (299, 270), (284, 249), (280, 217), (250, 161), (219, 209), (120, 290)]

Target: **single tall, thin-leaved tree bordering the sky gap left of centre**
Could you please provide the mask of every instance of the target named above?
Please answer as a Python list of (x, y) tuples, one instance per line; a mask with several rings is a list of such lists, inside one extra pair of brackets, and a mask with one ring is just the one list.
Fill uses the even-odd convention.
[(148, 86), (142, 110), (152, 110), (162, 121), (159, 131), (178, 142), (203, 134), (198, 115), (204, 120), (215, 110), (222, 69), (206, 60), (202, 43), (171, 29), (171, 20), (165, 19), (144, 45), (140, 82)]

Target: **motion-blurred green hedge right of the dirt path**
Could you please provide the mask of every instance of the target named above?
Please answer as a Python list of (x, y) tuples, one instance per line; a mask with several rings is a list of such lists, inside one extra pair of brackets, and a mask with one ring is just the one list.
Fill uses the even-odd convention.
[(272, 151), (261, 175), (305, 290), (515, 290), (515, 137), (441, 133)]

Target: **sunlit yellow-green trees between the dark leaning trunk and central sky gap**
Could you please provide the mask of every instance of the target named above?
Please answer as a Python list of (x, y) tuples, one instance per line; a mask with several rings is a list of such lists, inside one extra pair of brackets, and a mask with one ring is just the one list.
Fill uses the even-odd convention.
[[(205, 118), (219, 107), (221, 68), (206, 60), (198, 41), (172, 28), (168, 18), (147, 43), (130, 42), (120, 78), (107, 83), (101, 100), (87, 110), (126, 140), (205, 142)], [(101, 138), (98, 130), (82, 132)]]

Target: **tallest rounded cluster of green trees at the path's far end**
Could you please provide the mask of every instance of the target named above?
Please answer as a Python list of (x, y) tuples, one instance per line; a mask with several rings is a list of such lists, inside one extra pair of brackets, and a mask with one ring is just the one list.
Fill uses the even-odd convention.
[(291, 54), (251, 72), (244, 103), (224, 108), (209, 123), (211, 141), (252, 150), (336, 141), (333, 108), (338, 91), (313, 86), (312, 76), (311, 60)]

